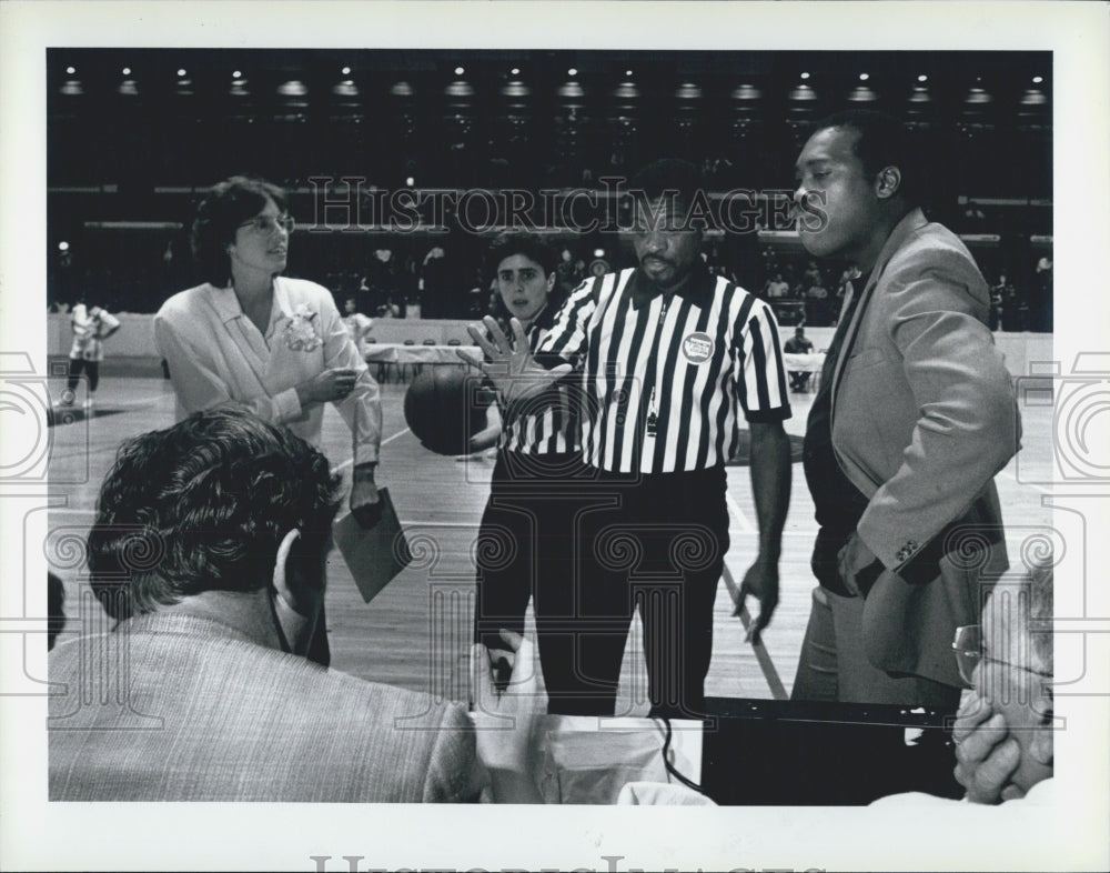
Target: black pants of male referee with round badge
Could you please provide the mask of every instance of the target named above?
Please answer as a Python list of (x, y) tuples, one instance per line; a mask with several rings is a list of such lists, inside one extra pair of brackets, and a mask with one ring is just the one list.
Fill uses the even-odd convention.
[(573, 584), (541, 603), (548, 712), (615, 714), (639, 606), (652, 715), (699, 718), (728, 551), (725, 469), (603, 473), (576, 519)]

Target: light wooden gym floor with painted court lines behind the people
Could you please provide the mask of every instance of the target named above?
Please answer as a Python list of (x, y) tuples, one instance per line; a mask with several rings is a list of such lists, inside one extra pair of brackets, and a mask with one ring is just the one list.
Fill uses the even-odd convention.
[[(56, 389), (61, 385), (54, 385)], [(493, 458), (456, 460), (425, 450), (406, 429), (402, 403), (405, 384), (382, 385), (384, 431), (379, 484), (389, 486), (415, 560), (371, 603), (364, 604), (343, 559), (329, 561), (327, 619), (332, 665), (364, 679), (465, 700), (471, 639), (474, 564), (472, 545), (488, 493)], [(54, 395), (60, 391), (54, 390)], [(791, 395), (794, 417), (786, 423), (801, 434), (813, 394)], [(80, 403), (80, 401), (79, 401)], [(1010, 561), (1020, 561), (1022, 543), (1043, 530), (1051, 511), (1043, 505), (1043, 486), (1019, 483), (1048, 481), (1029, 476), (1050, 469), (1050, 407), (1022, 409), (1020, 463), (997, 476)], [(173, 392), (168, 381), (140, 377), (101, 380), (97, 410), (85, 419), (59, 420), (51, 430), (51, 494), (48, 559), (65, 585), (65, 634), (107, 626), (108, 619), (88, 595), (85, 570), (74, 560), (72, 536), (83, 538), (92, 522), (97, 491), (120, 443), (135, 434), (173, 423)], [(350, 478), (350, 434), (333, 409), (324, 418), (324, 451)], [(783, 698), (797, 669), (814, 580), (809, 553), (816, 523), (800, 463), (794, 464), (794, 488), (780, 562), (781, 601), (764, 650), (744, 642), (741, 621), (733, 615), (734, 580), (743, 578), (755, 554), (756, 521), (748, 469), (728, 469), (731, 549), (726, 558), (714, 609), (713, 663), (706, 692), (727, 698)], [(83, 595), (82, 595), (83, 594)], [(753, 609), (755, 604), (753, 603)], [(529, 616), (531, 626), (531, 616)], [(622, 674), (618, 714), (647, 711), (646, 673), (634, 632)]]

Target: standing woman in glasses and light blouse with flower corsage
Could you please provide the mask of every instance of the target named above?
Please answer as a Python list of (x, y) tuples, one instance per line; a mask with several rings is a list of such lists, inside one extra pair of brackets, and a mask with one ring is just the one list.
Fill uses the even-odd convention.
[[(230, 403), (319, 446), (324, 403), (334, 403), (351, 429), (351, 511), (373, 526), (381, 516), (377, 383), (327, 289), (281, 275), (292, 230), (276, 185), (246, 177), (215, 185), (192, 228), (205, 281), (165, 301), (154, 317), (154, 341), (169, 362), (179, 420)], [(329, 661), (323, 631), (311, 656)]]

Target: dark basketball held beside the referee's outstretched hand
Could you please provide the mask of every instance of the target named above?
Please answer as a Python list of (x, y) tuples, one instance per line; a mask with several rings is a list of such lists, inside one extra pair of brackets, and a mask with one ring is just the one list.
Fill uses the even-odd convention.
[(482, 377), (462, 367), (428, 367), (405, 392), (405, 422), (436, 454), (466, 454), (471, 436), (486, 425)]

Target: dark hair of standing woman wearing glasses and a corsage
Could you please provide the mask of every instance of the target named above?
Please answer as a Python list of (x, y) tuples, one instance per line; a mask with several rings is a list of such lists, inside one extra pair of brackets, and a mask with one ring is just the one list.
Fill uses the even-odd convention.
[(235, 241), (235, 231), (273, 200), (282, 212), (289, 211), (284, 189), (252, 175), (233, 175), (214, 185), (196, 207), (190, 233), (193, 264), (201, 279), (223, 288), (231, 279), (228, 247)]

